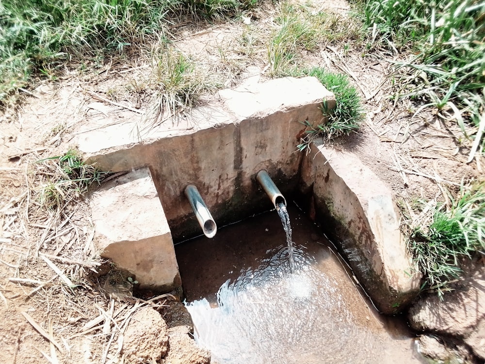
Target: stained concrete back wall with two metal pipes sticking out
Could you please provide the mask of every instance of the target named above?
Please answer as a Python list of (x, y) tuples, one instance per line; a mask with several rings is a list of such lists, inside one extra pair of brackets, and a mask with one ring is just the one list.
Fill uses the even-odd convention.
[(290, 194), (299, 179), (302, 153), (296, 146), (305, 131), (302, 122), (323, 120), (323, 99), (335, 104), (333, 94), (312, 77), (243, 85), (219, 96), (218, 104), (188, 115), (185, 130), (151, 130), (141, 142), (120, 135), (117, 145), (108, 127), (79, 143), (87, 151), (97, 144), (88, 162), (105, 170), (150, 168), (174, 241), (201, 233), (184, 196), (187, 184), (197, 187), (218, 225), (271, 208), (255, 181), (261, 169)]

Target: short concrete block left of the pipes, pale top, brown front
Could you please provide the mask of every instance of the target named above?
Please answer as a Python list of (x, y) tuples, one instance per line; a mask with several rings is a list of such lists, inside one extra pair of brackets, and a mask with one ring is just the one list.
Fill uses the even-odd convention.
[(172, 235), (147, 168), (107, 182), (89, 202), (102, 257), (128, 270), (142, 289), (180, 286)]

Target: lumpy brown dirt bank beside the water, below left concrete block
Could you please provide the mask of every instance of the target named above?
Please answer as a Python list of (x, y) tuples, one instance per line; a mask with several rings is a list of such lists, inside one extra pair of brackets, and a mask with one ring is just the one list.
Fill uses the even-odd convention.
[(135, 303), (136, 307), (137, 302), (154, 302), (152, 307), (134, 311), (129, 318), (121, 351), (127, 363), (210, 363), (210, 352), (195, 344), (192, 317), (175, 292), (148, 298), (142, 291), (137, 294), (141, 298), (133, 297), (135, 277), (109, 263), (88, 276), (93, 286), (119, 303)]

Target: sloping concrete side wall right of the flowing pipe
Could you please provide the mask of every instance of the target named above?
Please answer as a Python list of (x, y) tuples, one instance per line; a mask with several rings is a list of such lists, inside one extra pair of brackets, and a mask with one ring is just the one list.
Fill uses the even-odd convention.
[(312, 145), (302, 164), (302, 189), (312, 189), (316, 220), (376, 307), (386, 314), (402, 311), (418, 294), (421, 276), (384, 182), (352, 152)]

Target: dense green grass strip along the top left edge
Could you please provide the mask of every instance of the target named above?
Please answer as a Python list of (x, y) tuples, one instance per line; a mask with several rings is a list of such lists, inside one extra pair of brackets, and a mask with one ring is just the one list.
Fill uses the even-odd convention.
[(2, 0), (0, 106), (15, 102), (32, 75), (52, 74), (73, 58), (123, 54), (164, 38), (171, 18), (218, 19), (257, 0)]

